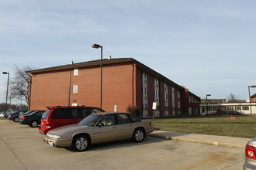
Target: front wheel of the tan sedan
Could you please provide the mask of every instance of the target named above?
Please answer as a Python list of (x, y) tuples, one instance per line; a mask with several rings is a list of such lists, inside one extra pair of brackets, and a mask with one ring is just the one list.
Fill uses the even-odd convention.
[(72, 148), (75, 151), (85, 151), (90, 145), (90, 140), (87, 135), (81, 134), (75, 136), (72, 141)]

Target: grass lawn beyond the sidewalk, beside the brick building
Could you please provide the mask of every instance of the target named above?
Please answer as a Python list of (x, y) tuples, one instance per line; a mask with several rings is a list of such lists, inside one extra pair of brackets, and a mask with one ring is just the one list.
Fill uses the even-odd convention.
[(164, 117), (154, 119), (154, 128), (162, 131), (254, 138), (256, 117), (238, 116), (237, 119), (228, 119), (227, 116)]

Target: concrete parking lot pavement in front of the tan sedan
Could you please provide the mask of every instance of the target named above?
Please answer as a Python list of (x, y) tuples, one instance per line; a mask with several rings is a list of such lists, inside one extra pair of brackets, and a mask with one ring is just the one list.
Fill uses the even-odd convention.
[(0, 169), (241, 169), (244, 149), (148, 137), (88, 151), (50, 148), (37, 128), (0, 120)]

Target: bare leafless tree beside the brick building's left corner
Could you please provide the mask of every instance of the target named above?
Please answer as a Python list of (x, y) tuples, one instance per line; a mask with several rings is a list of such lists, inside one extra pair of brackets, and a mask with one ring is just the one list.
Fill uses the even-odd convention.
[(28, 70), (33, 70), (31, 67), (26, 66), (19, 68), (15, 66), (15, 74), (10, 81), (10, 95), (12, 98), (18, 100), (26, 100), (26, 104), (29, 103), (29, 74), (26, 73)]

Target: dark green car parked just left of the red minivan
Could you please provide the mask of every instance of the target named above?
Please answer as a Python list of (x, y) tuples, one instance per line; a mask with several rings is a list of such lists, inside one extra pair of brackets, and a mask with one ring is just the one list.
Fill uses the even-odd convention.
[(41, 117), (45, 110), (32, 111), (29, 114), (24, 114), (19, 119), (19, 124), (27, 124), (31, 128), (37, 128), (40, 124)]

